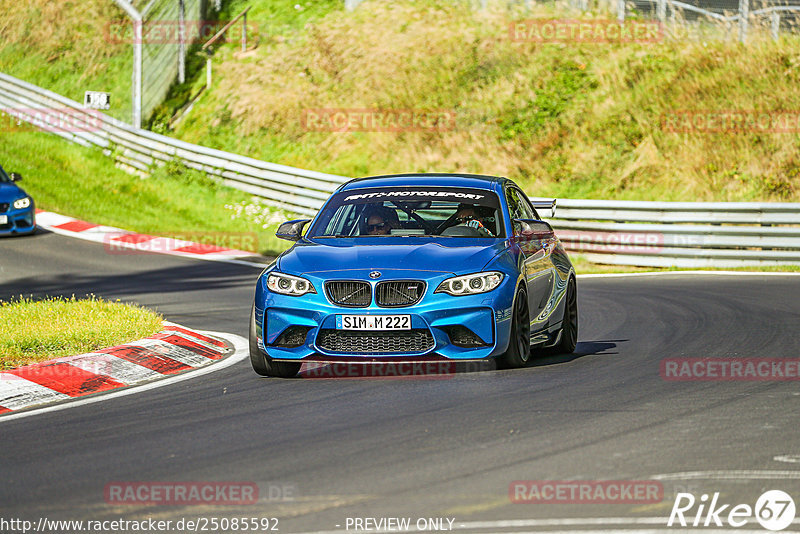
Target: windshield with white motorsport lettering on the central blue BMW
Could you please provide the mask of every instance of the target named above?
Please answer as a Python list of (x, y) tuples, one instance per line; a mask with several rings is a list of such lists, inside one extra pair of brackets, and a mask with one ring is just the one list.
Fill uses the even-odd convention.
[(497, 195), (483, 189), (392, 187), (337, 193), (308, 237), (504, 237)]

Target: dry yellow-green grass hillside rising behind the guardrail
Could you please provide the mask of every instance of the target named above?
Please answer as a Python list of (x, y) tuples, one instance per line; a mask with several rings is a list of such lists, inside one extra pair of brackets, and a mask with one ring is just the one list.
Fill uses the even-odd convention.
[[(172, 135), (349, 176), (459, 171), (560, 197), (800, 199), (797, 132), (662, 128), (679, 110), (797, 114), (797, 36), (754, 35), (746, 46), (515, 42), (514, 20), (610, 17), (466, 5), (367, 1), (255, 52), (222, 50), (212, 90)], [(456, 120), (446, 131), (307, 131), (303, 115), (318, 108), (439, 109)]]

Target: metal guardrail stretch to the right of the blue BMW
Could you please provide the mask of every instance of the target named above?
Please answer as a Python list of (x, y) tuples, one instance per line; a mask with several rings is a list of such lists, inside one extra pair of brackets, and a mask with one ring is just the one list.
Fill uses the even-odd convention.
[(800, 265), (800, 203), (559, 199), (552, 223), (568, 250), (598, 263)]

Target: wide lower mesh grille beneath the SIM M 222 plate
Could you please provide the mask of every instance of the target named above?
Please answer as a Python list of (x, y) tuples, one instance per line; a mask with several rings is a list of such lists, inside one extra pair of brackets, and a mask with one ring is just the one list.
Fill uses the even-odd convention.
[(401, 331), (353, 332), (321, 330), (317, 346), (328, 352), (350, 354), (386, 354), (425, 352), (433, 348), (433, 336), (427, 329)]

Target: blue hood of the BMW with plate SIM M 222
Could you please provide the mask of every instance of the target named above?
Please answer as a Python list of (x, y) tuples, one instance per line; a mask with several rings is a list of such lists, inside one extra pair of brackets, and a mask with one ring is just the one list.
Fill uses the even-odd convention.
[(278, 269), (290, 274), (364, 269), (460, 274), (480, 271), (505, 246), (502, 239), (452, 237), (302, 240), (280, 257)]

